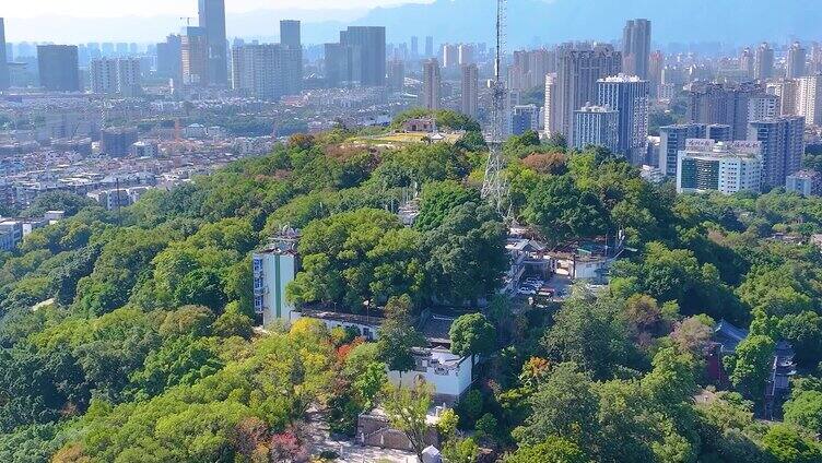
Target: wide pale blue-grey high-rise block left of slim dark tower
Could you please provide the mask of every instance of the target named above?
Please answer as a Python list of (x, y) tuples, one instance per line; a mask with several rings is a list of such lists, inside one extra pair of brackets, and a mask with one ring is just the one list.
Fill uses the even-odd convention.
[(238, 93), (277, 100), (294, 94), (298, 50), (279, 44), (244, 45), (232, 50), (232, 83)]

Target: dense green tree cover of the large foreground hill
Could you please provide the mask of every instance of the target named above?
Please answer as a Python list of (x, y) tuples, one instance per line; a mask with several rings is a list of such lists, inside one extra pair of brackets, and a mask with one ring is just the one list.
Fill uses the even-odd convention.
[[(351, 434), (396, 353), (310, 322), (254, 334), (249, 252), (303, 228), (290, 297), (350, 310), (472, 307), (507, 266), (502, 218), (479, 198), (477, 133), (398, 150), (352, 135), (295, 135), (119, 214), (42, 199), (78, 210), (0, 257), (0, 461), (287, 461), (310, 405)], [(822, 232), (822, 200), (677, 197), (607, 152), (532, 135), (505, 151), (520, 223), (551, 244), (622, 229), (637, 251), (604, 292), (552, 313), (494, 298), (498, 342), (482, 392), (457, 407), (472, 437), (451, 435), (450, 461), (474, 442), (509, 462), (822, 461), (822, 254), (771, 239)], [(386, 209), (414, 186), (422, 215), (406, 228)], [(729, 361), (731, 391), (695, 403), (721, 319), (752, 336)], [(771, 426), (753, 417), (778, 340), (802, 379)]]

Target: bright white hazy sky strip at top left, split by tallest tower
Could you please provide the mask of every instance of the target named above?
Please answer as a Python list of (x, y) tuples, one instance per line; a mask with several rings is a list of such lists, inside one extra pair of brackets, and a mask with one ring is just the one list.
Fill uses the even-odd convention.
[[(197, 0), (1, 0), (0, 14), (5, 17), (33, 17), (50, 14), (81, 17), (196, 15)], [(428, 0), (226, 0), (232, 13), (253, 10), (365, 9), (398, 3), (423, 3)]]

